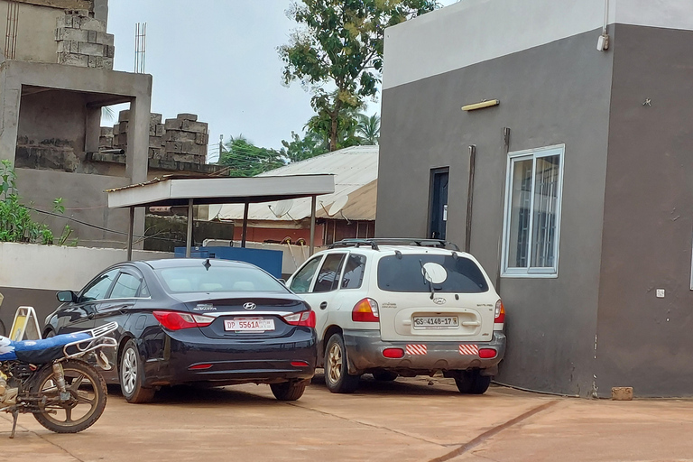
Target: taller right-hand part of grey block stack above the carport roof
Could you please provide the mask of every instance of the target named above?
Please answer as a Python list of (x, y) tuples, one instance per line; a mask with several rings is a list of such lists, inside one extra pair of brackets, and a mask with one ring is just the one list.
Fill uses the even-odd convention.
[(194, 114), (179, 114), (164, 123), (163, 148), (167, 161), (206, 163), (208, 125)]

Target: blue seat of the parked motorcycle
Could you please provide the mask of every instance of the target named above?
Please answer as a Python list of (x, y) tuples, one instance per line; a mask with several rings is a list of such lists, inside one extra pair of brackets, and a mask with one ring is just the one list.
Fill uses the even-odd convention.
[(8, 337), (0, 337), (0, 361), (19, 360), (32, 364), (49, 363), (65, 356), (63, 347), (66, 345), (89, 338), (91, 335), (86, 332), (63, 334), (42, 340), (14, 341)]

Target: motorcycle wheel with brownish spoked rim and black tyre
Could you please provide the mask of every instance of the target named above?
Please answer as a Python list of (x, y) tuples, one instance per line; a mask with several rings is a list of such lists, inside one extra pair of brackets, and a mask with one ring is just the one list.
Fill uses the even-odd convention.
[[(45, 397), (33, 417), (56, 433), (86, 430), (101, 417), (106, 408), (106, 382), (92, 365), (70, 359), (62, 364), (68, 400), (61, 400), (60, 389), (51, 365), (44, 367), (32, 387), (32, 393)], [(64, 396), (62, 397), (64, 398)]]

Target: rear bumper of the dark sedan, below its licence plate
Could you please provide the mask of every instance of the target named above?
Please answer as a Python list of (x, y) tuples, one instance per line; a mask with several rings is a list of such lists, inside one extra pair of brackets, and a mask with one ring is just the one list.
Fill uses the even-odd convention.
[(315, 374), (317, 340), (310, 328), (297, 328), (291, 337), (241, 341), (167, 331), (164, 343), (163, 357), (145, 362), (145, 386), (299, 382)]

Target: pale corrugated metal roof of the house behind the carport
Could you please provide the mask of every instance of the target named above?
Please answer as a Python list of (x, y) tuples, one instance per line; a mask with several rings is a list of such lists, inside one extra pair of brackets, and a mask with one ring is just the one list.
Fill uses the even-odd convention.
[[(258, 176), (286, 176), (328, 173), (335, 175), (335, 192), (318, 196), (318, 217), (330, 217), (330, 206), (348, 196), (341, 212), (350, 220), (374, 220), (378, 178), (378, 146), (352, 146), (328, 152), (301, 162), (294, 162)], [(292, 221), (310, 217), (310, 198), (251, 204), (249, 220)], [(243, 219), (243, 205), (210, 206), (209, 217)], [(273, 213), (274, 212), (274, 213)], [(328, 213), (330, 212), (330, 213)], [(332, 217), (342, 218), (341, 213)]]

